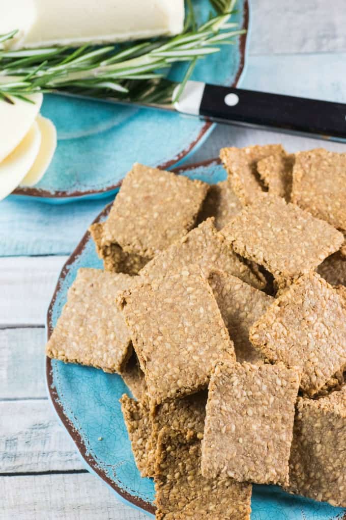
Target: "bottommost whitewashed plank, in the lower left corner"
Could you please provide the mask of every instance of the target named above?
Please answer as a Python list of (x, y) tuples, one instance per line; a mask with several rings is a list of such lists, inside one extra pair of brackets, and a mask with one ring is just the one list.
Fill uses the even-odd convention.
[[(145, 520), (86, 474), (0, 478), (2, 520)], [(2, 500), (6, 497), (6, 500)]]

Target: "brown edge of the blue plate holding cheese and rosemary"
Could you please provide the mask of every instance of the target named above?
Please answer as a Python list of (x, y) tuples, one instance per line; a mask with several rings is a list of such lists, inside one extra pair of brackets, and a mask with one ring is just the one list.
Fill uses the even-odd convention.
[[(246, 31), (248, 31), (248, 20), (249, 20), (248, 0), (245, 0), (242, 29), (246, 29)], [(238, 69), (236, 77), (234, 78), (233, 83), (230, 85), (231, 87), (237, 86), (240, 76), (244, 70), (247, 34), (248, 33), (246, 32), (245, 34), (242, 34), (240, 36), (239, 69)], [(205, 125), (203, 125), (203, 128), (201, 129), (200, 133), (198, 134), (197, 138), (194, 141), (192, 141), (185, 150), (182, 150), (175, 159), (171, 159), (170, 161), (162, 163), (157, 167), (160, 168), (161, 170), (167, 170), (173, 164), (184, 159), (184, 157), (186, 157), (186, 155), (188, 155), (191, 152), (191, 150), (197, 145), (198, 141), (209, 130), (209, 128), (212, 124), (213, 123), (211, 121), (206, 121)], [(37, 188), (17, 188), (17, 189), (15, 189), (15, 191), (12, 192), (12, 194), (19, 195), (19, 196), (27, 196), (27, 197), (40, 197), (40, 198), (46, 198), (46, 199), (63, 199), (63, 198), (72, 199), (75, 197), (84, 197), (84, 196), (88, 196), (88, 195), (96, 195), (96, 194), (100, 194), (100, 193), (112, 192), (112, 191), (116, 190), (117, 188), (119, 188), (120, 185), (121, 185), (121, 181), (117, 184), (114, 184), (113, 186), (109, 186), (108, 188), (105, 188), (102, 190), (87, 190), (87, 191), (73, 191), (73, 192), (67, 192), (67, 191), (51, 192), (51, 191), (47, 191), (47, 190), (40, 190)]]

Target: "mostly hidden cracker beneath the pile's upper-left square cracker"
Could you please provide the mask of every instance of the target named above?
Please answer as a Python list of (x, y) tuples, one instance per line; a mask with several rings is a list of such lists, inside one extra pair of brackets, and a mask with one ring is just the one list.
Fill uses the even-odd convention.
[(110, 272), (124, 272), (131, 276), (137, 275), (150, 258), (127, 253), (119, 244), (107, 242), (103, 229), (104, 223), (92, 224), (89, 232), (95, 242), (96, 253), (103, 260), (104, 269)]

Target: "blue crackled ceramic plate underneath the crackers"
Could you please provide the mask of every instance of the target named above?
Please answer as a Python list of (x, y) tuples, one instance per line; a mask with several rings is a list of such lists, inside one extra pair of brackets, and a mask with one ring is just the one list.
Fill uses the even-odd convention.
[[(226, 178), (224, 168), (216, 159), (181, 168), (177, 173), (210, 184)], [(104, 220), (109, 209), (110, 204), (95, 222)], [(103, 267), (89, 233), (82, 238), (61, 271), (48, 310), (48, 337), (80, 267)], [(75, 441), (88, 470), (102, 478), (120, 499), (154, 517), (154, 484), (151, 479), (142, 478), (136, 468), (120, 410), (119, 398), (124, 392), (129, 393), (120, 376), (65, 365), (49, 358), (46, 368), (54, 409)], [(98, 440), (99, 437), (103, 440)], [(278, 487), (254, 486), (252, 520), (341, 520), (345, 512), (326, 503), (288, 495)]]

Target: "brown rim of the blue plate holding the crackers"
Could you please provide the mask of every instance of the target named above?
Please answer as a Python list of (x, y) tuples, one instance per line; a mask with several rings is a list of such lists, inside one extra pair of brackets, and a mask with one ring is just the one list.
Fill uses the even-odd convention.
[[(172, 172), (176, 173), (176, 174), (180, 174), (180, 173), (184, 173), (185, 171), (188, 171), (188, 170), (194, 170), (199, 167), (207, 167), (207, 166), (210, 166), (211, 164), (220, 164), (220, 163), (221, 163), (221, 161), (219, 158), (207, 159), (207, 160), (204, 160), (201, 162), (174, 168), (172, 170)], [(121, 182), (120, 182), (120, 184), (121, 184)], [(112, 204), (113, 204), (113, 201), (106, 204), (105, 207), (103, 208), (103, 210), (93, 220), (92, 224), (100, 222), (100, 220), (103, 217), (107, 216), (110, 211), (110, 207), (112, 207)], [(52, 298), (50, 300), (48, 310), (47, 310), (47, 316), (46, 316), (47, 341), (50, 339), (50, 336), (53, 332), (53, 326), (52, 326), (52, 321), (51, 321), (52, 311), (53, 311), (53, 307), (57, 301), (58, 293), (62, 287), (62, 283), (68, 273), (69, 267), (75, 263), (76, 259), (84, 251), (85, 246), (87, 245), (87, 243), (89, 242), (90, 239), (91, 239), (91, 235), (90, 235), (89, 230), (87, 230), (84, 233), (84, 235), (82, 236), (82, 238), (80, 239), (80, 241), (78, 242), (74, 251), (67, 258), (66, 262), (64, 263), (63, 267), (61, 268), (61, 271), (60, 271), (60, 274), (58, 277), (58, 281), (56, 283), (56, 287), (54, 289), (54, 292), (53, 292), (53, 295), (52, 295)], [(86, 464), (88, 469), (91, 470), (92, 473), (96, 474), (96, 476), (101, 478), (105, 482), (105, 484), (107, 484), (113, 491), (115, 491), (117, 493), (117, 495), (120, 497), (120, 499), (122, 499), (124, 502), (126, 502), (127, 504), (129, 504), (131, 506), (134, 506), (137, 509), (140, 509), (142, 511), (155, 515), (155, 506), (153, 506), (153, 504), (143, 500), (140, 497), (133, 496), (128, 491), (121, 489), (119, 486), (117, 486), (117, 484), (115, 484), (113, 482), (113, 480), (111, 480), (106, 475), (105, 471), (103, 471), (98, 466), (98, 464), (96, 463), (94, 458), (91, 457), (90, 454), (88, 454), (88, 449), (87, 449), (80, 433), (78, 432), (78, 430), (76, 430), (76, 428), (73, 425), (73, 423), (71, 422), (71, 420), (68, 419), (68, 417), (64, 411), (64, 408), (60, 402), (57, 389), (55, 386), (53, 386), (53, 375), (52, 375), (52, 363), (51, 362), (52, 362), (52, 360), (46, 356), (45, 371), (46, 371), (46, 386), (47, 386), (49, 401), (50, 401), (50, 404), (53, 406), (54, 411), (57, 413), (58, 418), (60, 419), (61, 423), (63, 424), (66, 432), (72, 438), (83, 462)]]

